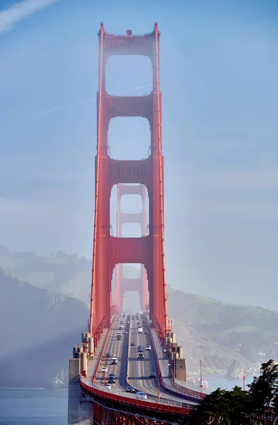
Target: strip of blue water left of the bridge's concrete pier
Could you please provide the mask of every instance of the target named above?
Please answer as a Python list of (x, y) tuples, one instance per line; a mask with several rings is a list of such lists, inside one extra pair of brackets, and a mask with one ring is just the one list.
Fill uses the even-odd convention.
[(1, 425), (66, 425), (67, 390), (0, 388)]

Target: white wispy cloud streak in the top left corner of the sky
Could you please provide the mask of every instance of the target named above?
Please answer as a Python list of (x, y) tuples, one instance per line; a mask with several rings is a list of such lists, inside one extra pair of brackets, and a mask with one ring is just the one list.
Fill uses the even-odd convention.
[(58, 0), (25, 0), (0, 11), (0, 33), (5, 33), (24, 18), (33, 15), (42, 8), (57, 3)]

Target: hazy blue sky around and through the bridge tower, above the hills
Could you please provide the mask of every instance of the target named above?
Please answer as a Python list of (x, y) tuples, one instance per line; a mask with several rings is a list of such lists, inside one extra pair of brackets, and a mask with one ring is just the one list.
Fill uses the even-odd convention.
[[(103, 21), (148, 33), (158, 21), (168, 283), (277, 310), (277, 1), (2, 4), (1, 244), (90, 258), (97, 31)], [(112, 58), (107, 88), (147, 94), (150, 70), (146, 58)], [(108, 137), (112, 157), (147, 155), (143, 119), (112, 120)]]

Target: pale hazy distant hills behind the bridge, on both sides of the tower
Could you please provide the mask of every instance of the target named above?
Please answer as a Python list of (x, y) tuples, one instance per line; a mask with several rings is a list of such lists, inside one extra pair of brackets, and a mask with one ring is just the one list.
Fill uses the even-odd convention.
[[(6, 266), (39, 288), (64, 293), (88, 302), (91, 290), (91, 260), (63, 252), (40, 257), (32, 252), (10, 253), (0, 247), (0, 266)], [(136, 278), (139, 270), (125, 266)], [(168, 286), (168, 314), (185, 348), (186, 357), (204, 360), (207, 368), (226, 370), (239, 356), (261, 363), (265, 353), (277, 358), (278, 314), (260, 307), (228, 305), (200, 295), (186, 294)], [(125, 306), (137, 310), (137, 297), (128, 293)], [(221, 366), (222, 365), (222, 366)]]

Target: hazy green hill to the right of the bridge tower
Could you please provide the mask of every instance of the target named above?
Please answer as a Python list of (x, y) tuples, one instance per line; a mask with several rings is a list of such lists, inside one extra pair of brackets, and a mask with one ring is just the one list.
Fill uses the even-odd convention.
[[(168, 287), (168, 314), (174, 319), (180, 342), (185, 342), (189, 356), (196, 356), (197, 344), (190, 344), (183, 334), (197, 332), (216, 346), (229, 348), (252, 363), (262, 363), (265, 356), (277, 358), (278, 314), (261, 307), (230, 305), (201, 295), (186, 294)], [(183, 330), (183, 327), (187, 331)], [(221, 351), (216, 351), (216, 357)], [(216, 367), (215, 356), (204, 344), (197, 356)], [(199, 357), (200, 358), (200, 357)]]

